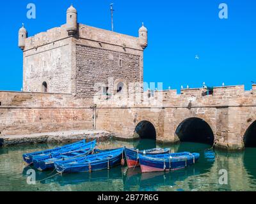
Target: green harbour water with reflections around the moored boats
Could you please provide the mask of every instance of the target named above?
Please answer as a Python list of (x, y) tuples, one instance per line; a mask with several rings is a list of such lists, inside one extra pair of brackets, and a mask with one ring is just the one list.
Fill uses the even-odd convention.
[[(72, 175), (54, 175), (56, 172), (36, 171), (36, 185), (28, 185), (27, 171), (22, 161), (24, 152), (33, 152), (55, 147), (55, 145), (22, 145), (0, 149), (0, 191), (255, 191), (256, 149), (232, 153), (207, 151), (209, 145), (202, 143), (180, 143), (157, 145), (152, 140), (136, 142), (102, 142), (98, 148), (134, 147), (150, 149), (169, 147), (172, 152), (198, 152), (201, 157), (195, 166), (184, 170), (141, 174), (121, 166), (110, 171), (95, 171)], [(218, 174), (228, 171), (228, 184), (220, 185)], [(52, 176), (54, 175), (54, 176)]]

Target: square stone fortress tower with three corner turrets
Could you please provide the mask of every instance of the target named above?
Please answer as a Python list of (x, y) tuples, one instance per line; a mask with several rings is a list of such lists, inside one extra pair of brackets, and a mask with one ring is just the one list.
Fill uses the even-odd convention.
[[(108, 90), (108, 78), (117, 84), (142, 84), (143, 50), (147, 44), (144, 25), (136, 38), (78, 24), (77, 10), (71, 5), (67, 24), (61, 27), (29, 38), (24, 25), (20, 29), (23, 90), (92, 98), (95, 84), (106, 84), (102, 91)], [(140, 89), (143, 91), (142, 86)]]

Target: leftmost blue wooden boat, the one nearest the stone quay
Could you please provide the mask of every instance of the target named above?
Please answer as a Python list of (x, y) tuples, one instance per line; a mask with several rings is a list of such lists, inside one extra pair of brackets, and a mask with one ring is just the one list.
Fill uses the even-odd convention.
[(86, 143), (86, 141), (82, 140), (80, 142), (65, 145), (63, 147), (56, 147), (54, 149), (43, 150), (43, 151), (40, 151), (40, 152), (33, 152), (33, 153), (23, 154), (22, 157), (23, 157), (24, 161), (27, 164), (31, 165), (31, 164), (33, 164), (33, 159), (35, 157), (49, 157), (49, 156), (52, 156), (52, 154), (70, 152), (73, 149), (76, 149), (77, 147), (84, 145), (85, 143)]

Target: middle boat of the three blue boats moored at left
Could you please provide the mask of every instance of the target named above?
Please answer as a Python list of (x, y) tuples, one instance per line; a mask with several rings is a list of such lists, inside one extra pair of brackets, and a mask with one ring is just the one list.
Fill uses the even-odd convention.
[(54, 162), (67, 161), (76, 157), (88, 156), (95, 149), (96, 143), (96, 140), (94, 140), (93, 142), (77, 146), (69, 152), (60, 152), (53, 154), (52, 156), (34, 157), (33, 164), (35, 168), (40, 171), (54, 169)]

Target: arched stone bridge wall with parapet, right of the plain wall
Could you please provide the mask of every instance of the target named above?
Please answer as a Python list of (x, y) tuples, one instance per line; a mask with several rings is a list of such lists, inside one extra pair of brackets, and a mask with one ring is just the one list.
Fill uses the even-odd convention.
[[(205, 89), (183, 89), (181, 94), (163, 91), (163, 103), (159, 106), (100, 103), (97, 128), (112, 131), (121, 138), (134, 138), (138, 123), (147, 120), (156, 128), (157, 141), (178, 142), (175, 132), (179, 125), (196, 117), (209, 124), (216, 147), (243, 149), (246, 129), (256, 120), (256, 95), (254, 91), (244, 91), (243, 86), (225, 88), (216, 87), (209, 96), (202, 95)], [(157, 94), (161, 92), (154, 95)]]

